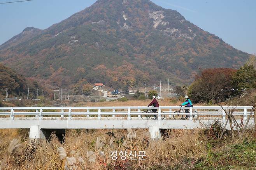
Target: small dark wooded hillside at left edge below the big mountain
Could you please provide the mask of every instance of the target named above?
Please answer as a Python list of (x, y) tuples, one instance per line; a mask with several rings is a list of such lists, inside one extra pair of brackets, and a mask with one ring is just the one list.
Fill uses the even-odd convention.
[[(5, 96), (6, 87), (8, 88), (9, 97), (23, 98), (26, 98), (29, 87), (30, 99), (36, 98), (37, 88), (42, 90), (42, 86), (39, 85), (36, 80), (33, 80), (32, 78), (25, 78), (13, 71), (11, 68), (0, 64), (0, 96)], [(46, 89), (44, 93), (47, 93)]]

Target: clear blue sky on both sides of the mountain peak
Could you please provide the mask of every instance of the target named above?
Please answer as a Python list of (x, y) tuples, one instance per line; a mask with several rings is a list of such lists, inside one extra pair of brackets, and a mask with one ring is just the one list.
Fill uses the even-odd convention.
[[(17, 0), (0, 0), (0, 3)], [(256, 0), (152, 0), (238, 50), (256, 53)], [(0, 4), (0, 44), (26, 27), (46, 29), (96, 0), (33, 0)]]

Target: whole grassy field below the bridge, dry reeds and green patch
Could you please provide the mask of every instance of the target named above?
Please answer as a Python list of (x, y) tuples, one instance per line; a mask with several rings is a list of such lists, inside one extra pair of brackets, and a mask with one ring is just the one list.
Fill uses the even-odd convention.
[[(221, 128), (169, 130), (154, 141), (147, 130), (78, 129), (67, 130), (63, 144), (54, 134), (50, 142), (30, 144), (28, 130), (0, 130), (0, 170), (255, 169), (254, 132), (236, 141), (225, 132), (219, 141), (220, 132)], [(136, 160), (128, 155), (112, 160), (110, 151), (146, 151), (146, 160), (138, 155)]]

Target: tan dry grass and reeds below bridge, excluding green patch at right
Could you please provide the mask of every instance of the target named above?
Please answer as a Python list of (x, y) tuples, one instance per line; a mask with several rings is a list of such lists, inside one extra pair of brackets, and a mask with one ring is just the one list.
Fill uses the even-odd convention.
[[(252, 135), (250, 131), (247, 133), (249, 138)], [(11, 142), (12, 138), (18, 141)], [(5, 170), (128, 170), (177, 166), (187, 169), (193, 168), (199, 158), (207, 156), (209, 143), (202, 130), (171, 130), (158, 141), (150, 140), (147, 130), (89, 130), (88, 133), (86, 130), (67, 130), (64, 144), (54, 135), (51, 142), (29, 144), (21, 142), (17, 130), (0, 130), (0, 140), (0, 160)], [(228, 144), (239, 142), (232, 142), (225, 136), (223, 141), (215, 141), (215, 149), (221, 151)], [(8, 148), (17, 151), (10, 154)], [(127, 158), (123, 161), (119, 157), (114, 161), (110, 151), (146, 151), (147, 156), (146, 160)]]

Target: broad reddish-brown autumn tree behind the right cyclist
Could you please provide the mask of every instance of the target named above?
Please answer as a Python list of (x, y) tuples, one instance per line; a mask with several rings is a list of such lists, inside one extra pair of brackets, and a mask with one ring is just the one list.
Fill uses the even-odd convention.
[(196, 76), (190, 85), (188, 94), (193, 102), (221, 102), (237, 94), (237, 87), (232, 82), (235, 69), (205, 69)]

